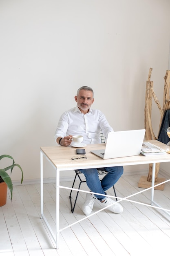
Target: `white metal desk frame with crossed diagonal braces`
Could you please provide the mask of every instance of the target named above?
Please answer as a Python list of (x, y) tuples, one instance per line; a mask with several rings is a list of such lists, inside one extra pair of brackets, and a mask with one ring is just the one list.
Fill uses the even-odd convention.
[[(43, 210), (43, 204), (44, 204), (44, 200), (43, 200), (43, 156), (50, 162), (50, 164), (53, 166), (53, 168), (55, 168), (56, 170), (56, 234), (53, 233), (50, 225), (49, 225), (49, 222), (48, 220), (46, 219), (46, 217), (44, 216), (44, 210)], [(139, 164), (148, 164), (148, 157), (145, 157), (146, 158), (146, 162), (139, 162)], [(157, 209), (161, 209), (163, 211), (165, 211), (169, 216), (170, 216), (170, 213), (168, 209), (163, 209), (161, 208), (161, 206), (159, 204), (157, 204), (155, 201), (154, 201), (154, 187), (155, 186), (159, 186), (160, 184), (163, 184), (163, 183), (166, 183), (170, 180), (166, 180), (164, 182), (161, 182), (160, 184), (157, 184), (154, 186), (155, 184), (155, 166), (156, 166), (156, 163), (157, 162), (170, 162), (170, 158), (169, 159), (164, 159), (163, 161), (161, 161), (160, 159), (157, 160), (155, 159), (154, 161), (152, 161), (152, 185), (150, 188), (148, 189), (144, 189), (142, 191), (139, 191), (137, 193), (134, 193), (132, 195), (129, 195), (125, 198), (120, 198), (120, 197), (117, 197), (117, 201), (114, 202), (114, 204), (116, 204), (117, 202), (121, 202), (123, 200), (127, 200), (127, 201), (130, 201), (130, 202), (135, 202), (135, 203), (138, 203), (138, 204), (144, 204), (144, 203), (141, 203), (141, 202), (136, 202), (136, 201), (133, 201), (133, 200), (130, 200), (128, 198), (134, 196), (134, 195), (137, 195), (139, 193), (143, 193), (144, 191), (147, 191), (149, 189), (151, 189), (151, 201), (150, 201), (150, 205), (149, 204), (144, 204), (146, 206), (150, 206), (150, 207), (154, 207), (154, 208), (157, 208)], [(150, 162), (151, 163), (151, 162)], [(121, 164), (120, 164), (121, 165)], [(137, 165), (136, 162), (134, 163), (128, 163), (128, 164), (124, 164), (124, 166), (128, 166), (128, 165)], [(106, 164), (107, 166), (107, 164)], [(113, 165), (114, 166), (114, 165)], [(118, 166), (118, 165), (117, 165)], [(86, 166), (86, 168), (92, 168), (94, 166)], [(101, 166), (96, 166), (96, 167), (101, 167)], [(51, 236), (55, 242), (55, 245), (56, 245), (56, 249), (59, 249), (59, 235), (60, 235), (60, 232), (68, 227), (71, 227), (72, 225), (75, 225), (77, 224), (78, 222), (82, 221), (82, 220), (85, 220), (86, 218), (89, 218), (90, 216), (93, 216), (94, 214), (108, 208), (108, 207), (105, 207), (105, 208), (102, 208), (100, 209), (99, 211), (96, 211), (95, 213), (92, 213), (91, 215), (88, 215), (84, 218), (82, 218), (81, 220), (77, 221), (77, 222), (74, 222), (73, 224), (71, 225), (68, 225), (67, 227), (64, 227), (63, 229), (60, 229), (60, 222), (59, 222), (59, 210), (60, 210), (60, 188), (64, 188), (64, 189), (71, 189), (71, 188), (68, 188), (68, 187), (64, 187), (64, 186), (60, 186), (60, 171), (63, 170), (63, 168), (57, 168), (55, 166), (55, 164), (53, 164), (53, 162), (51, 162), (51, 160), (49, 159), (49, 157), (46, 156), (46, 154), (44, 154), (44, 152), (41, 150), (40, 148), (40, 170), (41, 170), (41, 219), (44, 219), (44, 222), (46, 223), (46, 226), (48, 227), (50, 233), (51, 233)], [(64, 168), (64, 170), (73, 170), (73, 167), (71, 168)], [(75, 191), (78, 191), (78, 189), (73, 189)], [(85, 193), (90, 193), (89, 191), (84, 191), (84, 190), (79, 190), (79, 191), (82, 191), (82, 192), (85, 192)], [(99, 194), (100, 195), (100, 194)], [(109, 195), (108, 195), (109, 196)], [(115, 198), (114, 196), (109, 196), (111, 198)], [(155, 204), (156, 206), (153, 206), (153, 204)]]

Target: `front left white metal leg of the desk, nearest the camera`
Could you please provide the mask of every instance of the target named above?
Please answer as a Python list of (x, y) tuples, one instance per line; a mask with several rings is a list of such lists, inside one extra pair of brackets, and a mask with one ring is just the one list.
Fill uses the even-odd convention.
[(56, 169), (56, 249), (59, 249), (59, 214), (60, 214), (60, 171)]

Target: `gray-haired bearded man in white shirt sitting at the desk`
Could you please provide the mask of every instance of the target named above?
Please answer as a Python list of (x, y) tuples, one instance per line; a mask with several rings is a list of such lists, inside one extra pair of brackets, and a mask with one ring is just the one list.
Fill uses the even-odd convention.
[[(101, 143), (100, 132), (108, 137), (109, 132), (113, 132), (104, 114), (100, 110), (93, 110), (91, 105), (94, 102), (94, 92), (88, 86), (82, 86), (77, 90), (75, 96), (77, 106), (65, 111), (60, 117), (57, 129), (55, 131), (55, 141), (60, 146), (70, 146), (74, 135), (82, 135), (83, 143), (98, 144)], [(93, 204), (97, 198), (103, 207), (108, 207), (113, 213), (122, 213), (123, 207), (120, 203), (113, 204), (113, 200), (106, 195), (110, 189), (123, 174), (123, 166), (106, 167), (108, 172), (100, 181), (96, 168), (81, 169), (86, 177), (88, 188), (93, 192), (86, 194), (86, 200), (82, 210), (85, 215), (89, 215), (93, 210)], [(95, 195), (95, 193), (103, 195)], [(113, 205), (111, 205), (113, 204)]]

